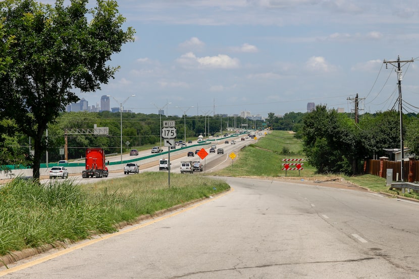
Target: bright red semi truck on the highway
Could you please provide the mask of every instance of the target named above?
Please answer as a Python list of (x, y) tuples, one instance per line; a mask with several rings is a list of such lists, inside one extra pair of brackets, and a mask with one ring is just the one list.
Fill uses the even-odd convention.
[(81, 176), (83, 178), (108, 177), (108, 168), (102, 148), (88, 148), (86, 150), (86, 170), (82, 171)]

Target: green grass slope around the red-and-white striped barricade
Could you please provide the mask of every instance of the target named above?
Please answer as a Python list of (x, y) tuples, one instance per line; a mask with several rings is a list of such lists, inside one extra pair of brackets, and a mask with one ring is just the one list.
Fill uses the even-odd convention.
[[(395, 196), (404, 196), (419, 199), (417, 193), (401, 193), (398, 190), (389, 190), (386, 179), (371, 174), (347, 176), (343, 174), (317, 174), (316, 168), (310, 166), (306, 160), (303, 170), (284, 171), (282, 159), (305, 159), (301, 140), (290, 131), (271, 131), (259, 141), (255, 141), (241, 150), (231, 164), (211, 173), (211, 175), (233, 177), (287, 177), (290, 179), (305, 180), (345, 180), (352, 184), (368, 188), (375, 192), (386, 192)], [(291, 162), (292, 163), (292, 162)]]

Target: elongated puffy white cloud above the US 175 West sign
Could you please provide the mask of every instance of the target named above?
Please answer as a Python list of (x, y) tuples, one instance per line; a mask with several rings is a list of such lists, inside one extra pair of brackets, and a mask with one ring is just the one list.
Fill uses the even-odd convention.
[(204, 67), (204, 68), (237, 68), (240, 61), (225, 54), (217, 56), (196, 57), (193, 52), (183, 54), (176, 61), (185, 67)]

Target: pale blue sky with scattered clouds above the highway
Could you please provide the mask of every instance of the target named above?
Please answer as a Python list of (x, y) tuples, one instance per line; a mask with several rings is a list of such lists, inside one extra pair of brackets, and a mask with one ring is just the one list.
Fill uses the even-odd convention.
[[(43, 1), (48, 3), (48, 1)], [(49, 4), (53, 4), (51, 0)], [(90, 1), (89, 5), (95, 2)], [(115, 79), (78, 93), (137, 113), (268, 117), (307, 103), (359, 112), (419, 112), (417, 0), (120, 0), (136, 30), (109, 65)], [(386, 68), (387, 65), (387, 68)], [(134, 97), (129, 97), (136, 95)], [(127, 98), (129, 99), (127, 100)], [(114, 99), (115, 98), (115, 99)]]

